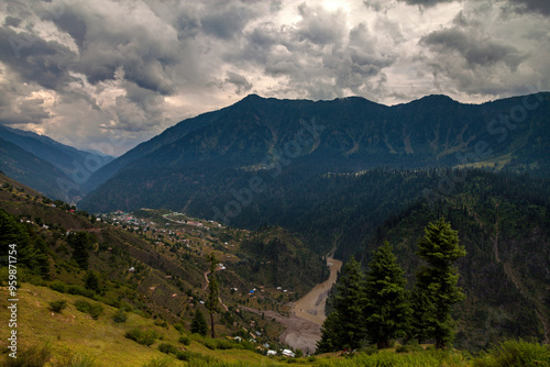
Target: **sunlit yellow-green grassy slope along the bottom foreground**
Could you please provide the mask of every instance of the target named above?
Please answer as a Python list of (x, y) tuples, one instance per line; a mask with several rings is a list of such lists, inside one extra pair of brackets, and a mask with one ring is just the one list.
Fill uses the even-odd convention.
[[(550, 366), (549, 346), (525, 341), (506, 341), (477, 356), (460, 351), (425, 351), (419, 346), (405, 345), (396, 348), (398, 353), (386, 349), (360, 352), (349, 357), (330, 354), (305, 358), (268, 358), (243, 349), (242, 345), (230, 340), (183, 335), (174, 327), (155, 325), (154, 320), (135, 313), (129, 313), (127, 322), (117, 323), (112, 315), (119, 309), (85, 300), (88, 304), (101, 304), (103, 312), (109, 315), (92, 320), (76, 307), (76, 301), (82, 300), (81, 296), (64, 294), (66, 309), (63, 313), (55, 313), (48, 305), (58, 300), (57, 291), (24, 283), (19, 292), (19, 307), (25, 312), (21, 312), (18, 320), (18, 359), (9, 358), (4, 351), (0, 354), (0, 366)], [(7, 305), (6, 299), (0, 298), (0, 320), (7, 320)], [(7, 340), (8, 333), (8, 327), (0, 327), (0, 343)], [(140, 344), (124, 337), (130, 334), (135, 340), (145, 340), (150, 333), (155, 335), (152, 344)], [(179, 342), (180, 338), (185, 343)]]

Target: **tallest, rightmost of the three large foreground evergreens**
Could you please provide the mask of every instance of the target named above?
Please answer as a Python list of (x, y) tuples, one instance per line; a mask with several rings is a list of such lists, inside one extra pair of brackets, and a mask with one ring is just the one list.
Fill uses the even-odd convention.
[(459, 244), (458, 232), (440, 218), (426, 226), (417, 255), (428, 264), (417, 274), (417, 291), (424, 294), (418, 300), (426, 303), (425, 309), (415, 310), (416, 316), (422, 318), (417, 327), (426, 330), (436, 340), (437, 348), (444, 348), (454, 340), (451, 308), (464, 299), (462, 289), (457, 286), (459, 273), (453, 263), (465, 256), (466, 249)]

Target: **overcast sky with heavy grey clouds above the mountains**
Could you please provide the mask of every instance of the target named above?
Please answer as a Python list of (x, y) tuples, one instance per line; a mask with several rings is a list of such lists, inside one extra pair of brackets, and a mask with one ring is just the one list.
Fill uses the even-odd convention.
[(0, 123), (119, 155), (237, 102), (550, 89), (548, 0), (0, 3)]

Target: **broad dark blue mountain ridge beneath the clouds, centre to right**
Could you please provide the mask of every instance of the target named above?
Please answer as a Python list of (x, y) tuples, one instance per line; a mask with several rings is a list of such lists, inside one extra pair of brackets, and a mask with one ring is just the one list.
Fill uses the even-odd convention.
[[(290, 173), (299, 180), (373, 167), (547, 171), (549, 114), (548, 92), (483, 104), (429, 96), (394, 107), (363, 98), (314, 102), (252, 94), (185, 120), (99, 169), (90, 184), (110, 179), (80, 205), (90, 211), (184, 210), (205, 190), (238, 191), (262, 174), (280, 181)], [(197, 205), (223, 208), (227, 202)], [(215, 215), (210, 210), (205, 218)]]

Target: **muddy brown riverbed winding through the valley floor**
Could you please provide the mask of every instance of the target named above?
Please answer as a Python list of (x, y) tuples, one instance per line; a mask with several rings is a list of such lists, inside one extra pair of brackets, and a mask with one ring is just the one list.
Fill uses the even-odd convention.
[(337, 281), (338, 271), (342, 268), (342, 262), (327, 258), (327, 265), (330, 267), (330, 276), (326, 281), (317, 285), (306, 296), (296, 301), (294, 313), (301, 319), (309, 320), (318, 325), (322, 325), (324, 319), (324, 305), (329, 291)]

